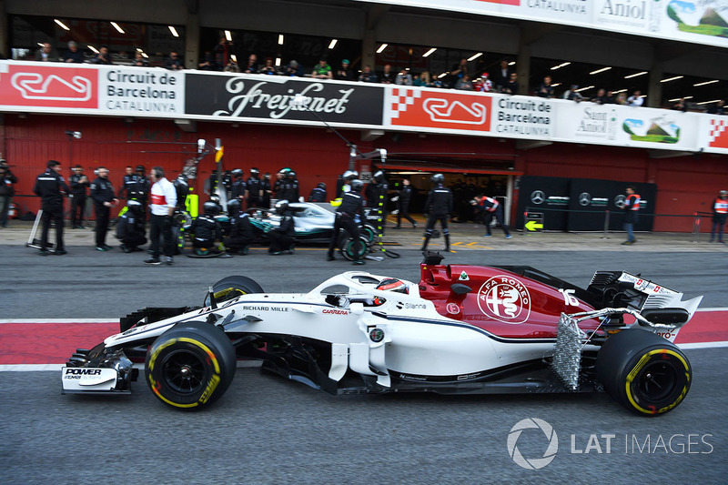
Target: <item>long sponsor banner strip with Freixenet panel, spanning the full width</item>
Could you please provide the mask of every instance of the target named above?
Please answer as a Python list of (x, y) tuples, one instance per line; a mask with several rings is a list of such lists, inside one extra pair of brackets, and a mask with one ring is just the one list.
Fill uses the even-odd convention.
[[(298, 96), (299, 95), (299, 96)], [(305, 103), (293, 102), (294, 97)], [(0, 113), (331, 126), (728, 154), (726, 116), (454, 89), (0, 61)]]

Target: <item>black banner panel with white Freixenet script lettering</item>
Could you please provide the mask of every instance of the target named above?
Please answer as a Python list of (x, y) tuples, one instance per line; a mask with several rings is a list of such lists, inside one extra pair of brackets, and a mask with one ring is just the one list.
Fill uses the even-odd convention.
[[(305, 106), (292, 103), (305, 96)], [(380, 126), (384, 91), (371, 85), (283, 76), (187, 76), (187, 115), (244, 121), (320, 121)]]

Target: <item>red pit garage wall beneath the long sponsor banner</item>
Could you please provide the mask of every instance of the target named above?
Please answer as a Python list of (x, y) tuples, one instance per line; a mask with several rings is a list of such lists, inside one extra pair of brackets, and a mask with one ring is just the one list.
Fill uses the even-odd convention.
[[(220, 138), (225, 146), (227, 169), (258, 167), (261, 172), (275, 174), (281, 167), (298, 172), (301, 194), (319, 182), (329, 186), (332, 195), (337, 176), (349, 167), (349, 148), (336, 134), (320, 127), (268, 126), (240, 123), (197, 123), (197, 133), (182, 131), (169, 120), (94, 117), (5, 115), (0, 126), (2, 151), (14, 173), (20, 178), (18, 194), (32, 196), (35, 177), (45, 170), (49, 159), (64, 164), (64, 176), (76, 163), (86, 169), (104, 165), (111, 170), (115, 187), (124, 175), (124, 167), (143, 164), (164, 167), (167, 175), (176, 177), (187, 157), (197, 153), (197, 138), (214, 144)], [(81, 131), (81, 139), (69, 142), (65, 131)], [(728, 156), (650, 158), (641, 148), (578, 146), (553, 144), (531, 150), (517, 149), (514, 140), (477, 136), (420, 136), (411, 133), (388, 133), (371, 142), (359, 141), (359, 131), (341, 130), (362, 152), (387, 148), (389, 154), (418, 154), (440, 158), (513, 161), (516, 172), (532, 176), (580, 177), (650, 182), (658, 186), (656, 213), (691, 215), (710, 211), (710, 201), (721, 189), (728, 188)], [(71, 151), (69, 151), (71, 150)], [(457, 154), (457, 155), (453, 155)], [(401, 157), (405, 157), (402, 155)], [(72, 158), (72, 162), (71, 162)], [(427, 167), (427, 162), (423, 162)], [(198, 169), (202, 181), (214, 168), (210, 154)], [(22, 211), (37, 210), (37, 197), (16, 197)], [(515, 202), (515, 201), (514, 201)], [(515, 204), (514, 204), (515, 207)], [(703, 229), (707, 225), (703, 225)], [(690, 231), (691, 217), (656, 217), (656, 231)]]

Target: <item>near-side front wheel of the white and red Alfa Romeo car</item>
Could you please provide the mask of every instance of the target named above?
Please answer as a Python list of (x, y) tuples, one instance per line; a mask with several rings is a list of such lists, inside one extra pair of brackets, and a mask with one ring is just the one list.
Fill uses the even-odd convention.
[(203, 409), (235, 376), (236, 356), (225, 332), (206, 322), (177, 324), (147, 350), (145, 376), (157, 399), (177, 408)]

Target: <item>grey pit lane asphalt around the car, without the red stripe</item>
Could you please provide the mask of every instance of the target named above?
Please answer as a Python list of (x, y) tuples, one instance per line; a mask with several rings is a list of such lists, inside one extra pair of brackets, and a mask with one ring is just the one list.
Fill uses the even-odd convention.
[[(456, 226), (453, 242), (485, 248), (459, 248), (446, 262), (526, 264), (580, 286), (596, 269), (625, 269), (686, 298), (703, 294), (702, 307), (726, 306), (728, 251), (708, 245), (704, 236), (703, 243), (693, 243), (690, 235), (638, 235), (640, 242), (625, 248), (622, 235), (504, 240), (497, 231), (485, 239), (466, 229)], [(26, 229), (0, 232), (3, 318), (115, 318), (147, 305), (199, 304), (207, 286), (229, 274), (255, 278), (267, 291), (307, 291), (356, 268), (340, 258), (327, 263), (321, 247), (281, 257), (262, 250), (230, 259), (177, 257), (172, 268), (146, 268), (142, 253), (98, 253), (93, 234), (77, 232), (66, 238), (68, 255), (47, 258), (23, 246)], [(420, 235), (390, 231), (386, 239), (402, 246), (389, 248), (402, 257), (361, 269), (418, 280)], [(442, 239), (433, 242), (431, 248), (441, 248)], [(331, 397), (248, 368), (238, 369), (214, 407), (182, 413), (160, 404), (143, 379), (131, 396), (112, 399), (62, 396), (58, 372), (0, 372), (0, 481), (723, 483), (728, 350), (686, 354), (693, 364), (691, 392), (655, 419), (634, 416), (604, 394)], [(541, 470), (521, 469), (507, 449), (511, 428), (527, 418), (549, 422), (559, 438), (554, 460)], [(575, 452), (590, 440), (591, 452)], [(523, 456), (541, 458), (547, 440), (540, 430), (527, 429), (517, 445)]]

